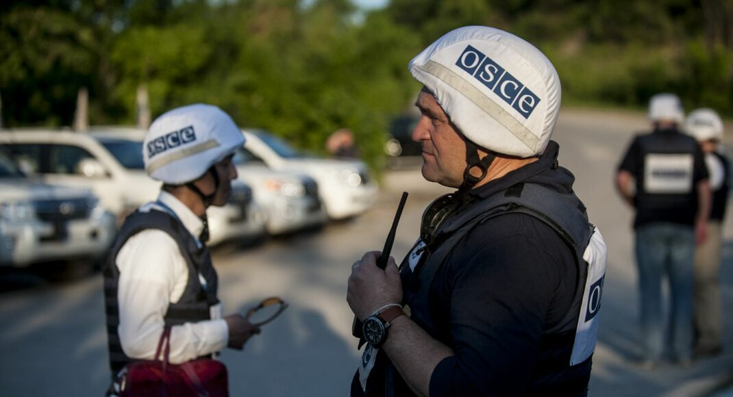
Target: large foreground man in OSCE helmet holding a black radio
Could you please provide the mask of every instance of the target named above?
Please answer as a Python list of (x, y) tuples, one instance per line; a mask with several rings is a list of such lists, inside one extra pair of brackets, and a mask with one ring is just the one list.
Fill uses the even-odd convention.
[(560, 81), (533, 45), (467, 26), (409, 65), (423, 177), (457, 188), (399, 270), (353, 264), (367, 341), (352, 396), (585, 396), (605, 244), (550, 141)]

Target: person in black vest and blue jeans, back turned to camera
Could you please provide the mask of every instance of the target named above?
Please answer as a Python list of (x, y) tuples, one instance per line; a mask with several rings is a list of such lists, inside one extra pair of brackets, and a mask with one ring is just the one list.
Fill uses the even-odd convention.
[[(643, 355), (652, 369), (665, 352), (662, 281), (671, 287), (671, 354), (680, 366), (692, 363), (693, 258), (707, 236), (710, 185), (700, 146), (679, 132), (684, 120), (674, 94), (649, 101), (652, 133), (636, 136), (616, 173), (616, 188), (636, 209), (636, 264), (639, 271)], [(636, 181), (636, 182), (635, 182)]]

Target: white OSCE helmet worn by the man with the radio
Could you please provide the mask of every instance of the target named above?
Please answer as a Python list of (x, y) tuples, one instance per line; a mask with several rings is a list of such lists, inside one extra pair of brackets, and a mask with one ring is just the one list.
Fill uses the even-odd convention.
[(465, 26), (425, 48), (409, 69), (474, 144), (518, 157), (545, 151), (561, 87), (534, 45), (499, 29)]

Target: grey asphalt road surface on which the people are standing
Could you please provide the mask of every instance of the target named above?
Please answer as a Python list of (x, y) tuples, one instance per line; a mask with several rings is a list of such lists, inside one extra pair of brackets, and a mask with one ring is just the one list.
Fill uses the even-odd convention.
[[(631, 134), (645, 127), (641, 114), (564, 110), (554, 136), (561, 146), (560, 164), (575, 173), (575, 190), (609, 249), (590, 392), (702, 396), (733, 374), (733, 316), (724, 319), (726, 350), (721, 356), (698, 360), (688, 369), (639, 371), (630, 364), (639, 344), (633, 214), (616, 196), (612, 180)], [(350, 264), (364, 251), (381, 249), (402, 190), (410, 198), (392, 251), (399, 261), (416, 240), (424, 207), (449, 192), (425, 182), (417, 168), (389, 171), (377, 205), (359, 218), (251, 247), (215, 250), (225, 311), (245, 311), (270, 295), (290, 303), (243, 352), (221, 355), (232, 396), (347, 396), (359, 362), (350, 336), (353, 316), (345, 302)], [(725, 237), (723, 300), (730, 312), (730, 220)], [(100, 275), (57, 283), (6, 272), (0, 285), (5, 289), (0, 294), (0, 395), (101, 395), (108, 365)]]

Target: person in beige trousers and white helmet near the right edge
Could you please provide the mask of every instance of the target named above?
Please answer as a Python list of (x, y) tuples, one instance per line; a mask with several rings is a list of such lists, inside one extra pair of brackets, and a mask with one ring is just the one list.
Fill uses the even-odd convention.
[(723, 120), (715, 111), (701, 108), (690, 112), (685, 120), (685, 131), (696, 138), (704, 152), (712, 190), (707, 240), (698, 245), (695, 252), (695, 352), (700, 356), (718, 355), (723, 351), (721, 246), (730, 188), (730, 162), (721, 151)]

